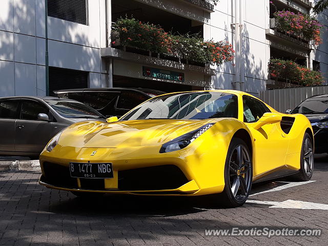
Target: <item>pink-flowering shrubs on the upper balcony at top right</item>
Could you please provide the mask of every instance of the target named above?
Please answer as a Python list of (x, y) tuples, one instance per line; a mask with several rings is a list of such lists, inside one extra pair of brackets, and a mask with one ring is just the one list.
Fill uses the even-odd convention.
[(314, 17), (288, 10), (274, 13), (277, 28), (280, 31), (295, 35), (298, 38), (314, 40), (316, 45), (321, 43), (320, 31), (323, 25)]

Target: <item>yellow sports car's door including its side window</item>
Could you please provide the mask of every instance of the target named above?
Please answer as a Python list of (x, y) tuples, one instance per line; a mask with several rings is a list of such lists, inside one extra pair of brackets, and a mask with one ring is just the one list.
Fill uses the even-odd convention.
[(253, 176), (284, 166), (289, 140), (280, 128), (280, 122), (267, 124), (255, 130), (253, 126), (266, 112), (271, 112), (261, 101), (254, 97), (243, 95), (243, 117), (254, 138), (255, 163)]

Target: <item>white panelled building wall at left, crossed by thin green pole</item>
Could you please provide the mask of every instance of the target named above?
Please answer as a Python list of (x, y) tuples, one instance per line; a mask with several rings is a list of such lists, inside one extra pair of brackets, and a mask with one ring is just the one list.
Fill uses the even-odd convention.
[[(45, 1), (0, 6), (0, 96), (45, 95)], [(48, 17), (49, 65), (89, 71), (90, 86), (104, 86), (105, 0), (89, 1), (88, 11), (88, 25)]]

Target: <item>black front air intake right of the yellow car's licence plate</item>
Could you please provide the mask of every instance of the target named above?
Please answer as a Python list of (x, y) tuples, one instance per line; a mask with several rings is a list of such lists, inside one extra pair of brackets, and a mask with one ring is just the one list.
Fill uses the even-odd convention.
[(125, 191), (172, 190), (188, 182), (174, 165), (118, 171), (118, 189)]

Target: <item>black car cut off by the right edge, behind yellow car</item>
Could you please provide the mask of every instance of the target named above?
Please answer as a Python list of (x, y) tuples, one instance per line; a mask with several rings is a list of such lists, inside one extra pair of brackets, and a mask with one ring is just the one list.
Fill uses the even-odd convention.
[(306, 98), (294, 110), (286, 113), (304, 114), (314, 132), (315, 153), (328, 153), (328, 94)]

